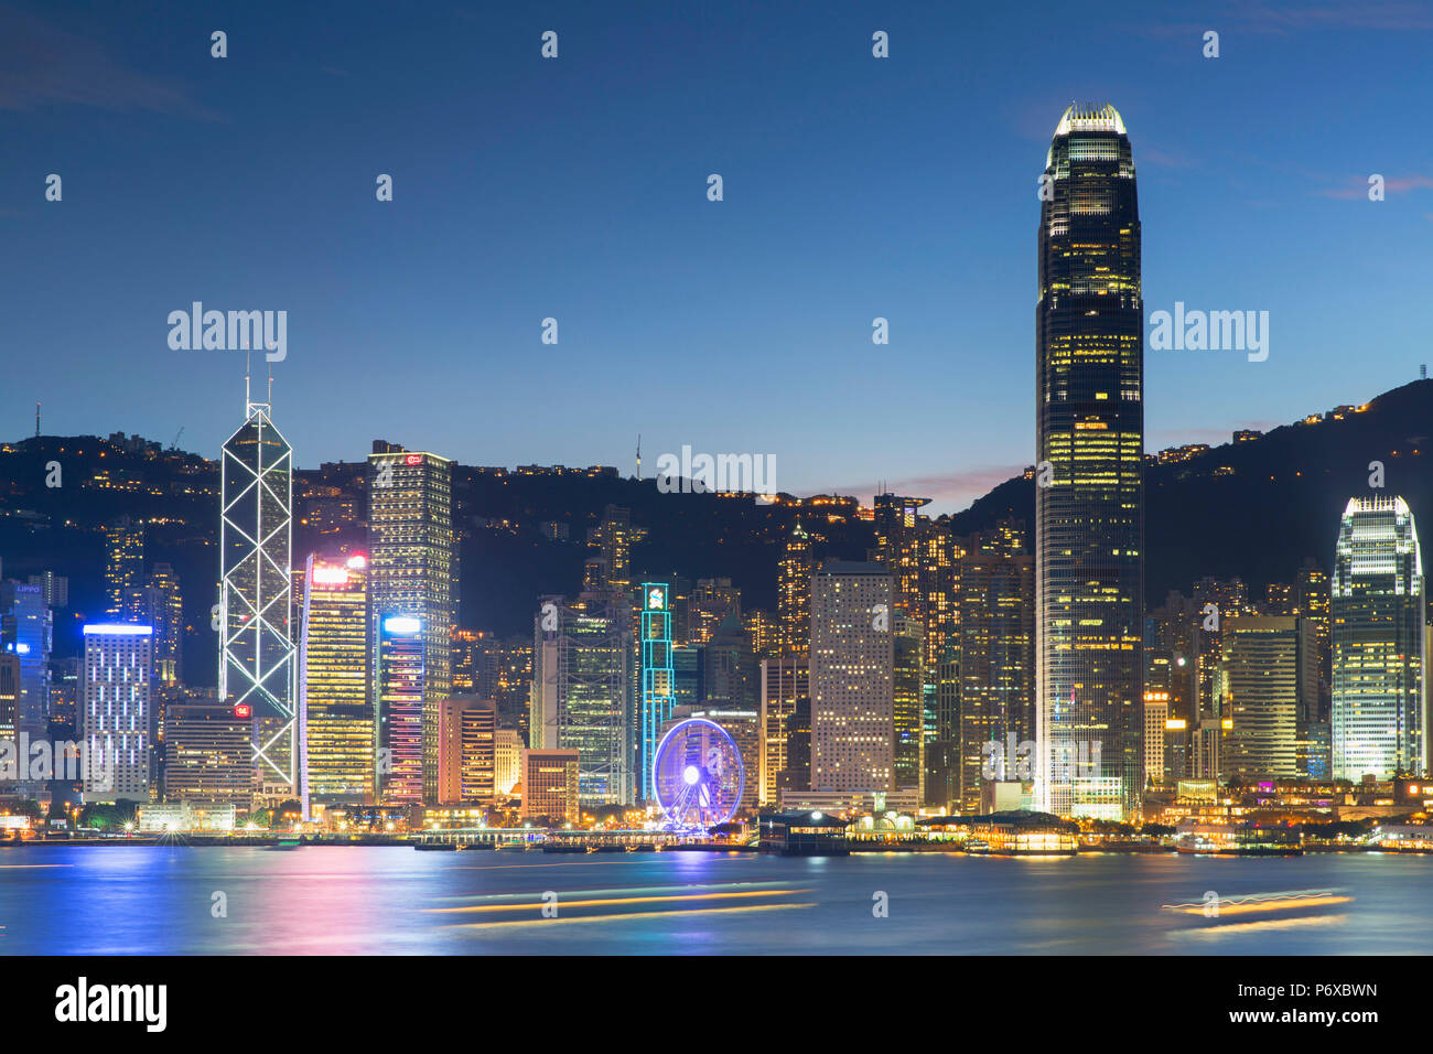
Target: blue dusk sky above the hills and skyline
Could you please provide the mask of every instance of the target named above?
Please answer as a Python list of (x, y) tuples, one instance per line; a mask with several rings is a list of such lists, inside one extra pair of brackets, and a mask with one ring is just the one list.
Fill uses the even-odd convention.
[(1151, 450), (1414, 379), (1433, 10), (1152, 7), (0, 4), (0, 437), (42, 400), (46, 433), (216, 456), (242, 353), (166, 340), (199, 300), (288, 311), (299, 466), (383, 437), (629, 472), (641, 433), (648, 472), (772, 453), (785, 490), (963, 508), (1033, 460), (1037, 178), (1076, 99), (1129, 128), (1146, 313), (1270, 313), (1264, 363), (1146, 353)]

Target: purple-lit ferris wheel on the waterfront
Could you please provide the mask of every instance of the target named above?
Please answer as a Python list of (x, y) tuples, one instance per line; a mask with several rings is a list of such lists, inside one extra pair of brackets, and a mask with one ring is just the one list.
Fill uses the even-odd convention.
[(741, 804), (747, 767), (731, 734), (705, 717), (674, 724), (656, 744), (652, 793), (674, 827), (727, 823)]

